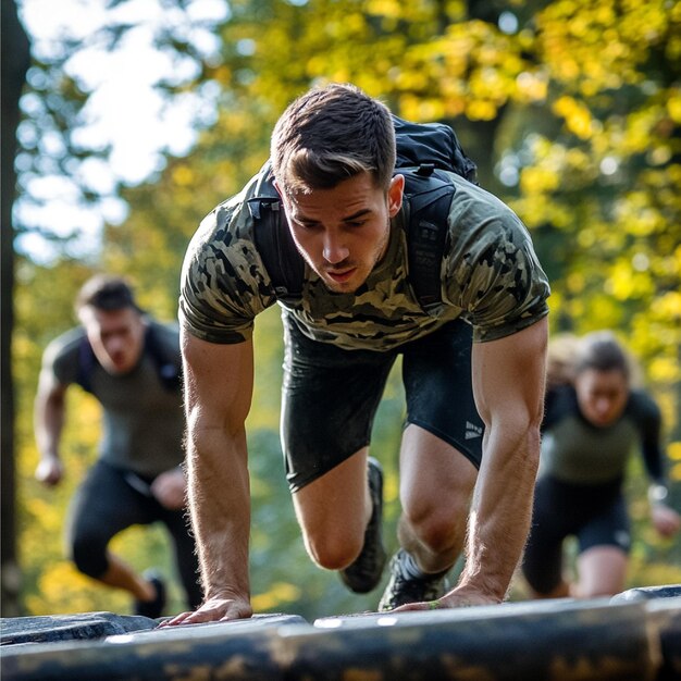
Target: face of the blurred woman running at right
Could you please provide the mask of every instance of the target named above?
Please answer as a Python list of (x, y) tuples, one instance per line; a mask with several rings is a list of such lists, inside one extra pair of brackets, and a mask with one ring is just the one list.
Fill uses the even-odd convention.
[(600, 428), (619, 419), (629, 397), (627, 376), (617, 369), (581, 371), (574, 380), (574, 388), (584, 418)]

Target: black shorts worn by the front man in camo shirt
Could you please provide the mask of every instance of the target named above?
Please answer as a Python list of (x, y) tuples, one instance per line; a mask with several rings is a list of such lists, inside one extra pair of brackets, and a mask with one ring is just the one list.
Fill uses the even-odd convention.
[(458, 449), (480, 468), (484, 425), (471, 381), (472, 330), (445, 324), (396, 350), (345, 350), (311, 340), (284, 314), (282, 446), (292, 492), (369, 445), (385, 382), (403, 355), (406, 423)]

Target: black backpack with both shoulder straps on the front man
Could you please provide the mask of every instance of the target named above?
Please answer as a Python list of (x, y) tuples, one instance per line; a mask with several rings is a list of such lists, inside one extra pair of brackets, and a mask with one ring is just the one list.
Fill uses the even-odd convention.
[[(393, 116), (393, 122), (397, 145), (395, 170), (405, 176), (403, 210), (407, 211), (409, 280), (423, 310), (435, 313), (442, 302), (439, 272), (454, 195), (450, 179), (438, 170), (457, 173), (478, 184), (476, 166), (448, 125), (410, 123), (397, 116)], [(296, 249), (272, 179), (268, 161), (248, 207), (255, 222), (256, 247), (275, 295), (295, 305), (302, 293), (305, 261)]]

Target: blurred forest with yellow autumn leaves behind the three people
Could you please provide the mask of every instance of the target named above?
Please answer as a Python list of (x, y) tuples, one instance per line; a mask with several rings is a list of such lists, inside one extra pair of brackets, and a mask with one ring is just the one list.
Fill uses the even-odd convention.
[[(52, 337), (74, 324), (77, 288), (95, 271), (124, 273), (144, 307), (162, 320), (175, 319), (181, 263), (200, 219), (262, 164), (285, 106), (329, 81), (352, 82), (404, 117), (455, 127), (479, 165), (481, 184), (509, 202), (532, 232), (553, 287), (552, 332), (612, 329), (640, 360), (664, 411), (672, 504), (681, 508), (681, 3), (231, 0), (223, 20), (196, 26), (188, 18), (190, 0), (159, 0), (169, 16), (187, 13), (187, 21), (154, 35), (158, 50), (177, 66), (157, 91), (169, 103), (197, 98), (203, 115), (197, 116), (188, 152), (174, 156), (169, 144), (144, 182), (117, 182), (106, 191), (88, 169), (96, 160), (107, 164), (111, 149), (78, 135), (92, 90), (70, 70), (92, 45), (125, 49), (135, 26), (114, 13), (125, 1), (102, 4), (111, 16), (104, 27), (86, 39), (64, 35), (49, 52), (34, 51), (26, 64), (15, 164), (16, 201), (24, 209), (14, 212), (14, 234), (3, 188), (3, 329), (12, 327), (12, 290), (14, 314), (11, 369), (4, 364), (2, 374), (5, 616), (15, 614), (13, 603), (32, 615), (131, 608), (125, 597), (79, 577), (62, 556), (66, 504), (95, 457), (99, 434), (98, 407), (79, 388), (69, 397), (66, 481), (50, 491), (33, 478), (32, 409), (40, 356)], [(21, 17), (21, 1), (17, 5)], [(23, 79), (22, 54), (27, 54), (20, 26), (10, 21), (17, 5), (2, 0), (3, 170), (5, 149), (12, 150), (5, 70)], [(10, 36), (13, 26), (16, 35)], [(197, 47), (199, 29), (214, 40), (210, 53)], [(136, 106), (135, 98), (125, 101), (133, 114)], [(39, 207), (34, 188), (45, 176), (69, 178), (79, 200), (95, 209), (111, 197), (124, 201), (124, 219), (106, 219), (101, 244), (85, 253), (76, 219), (69, 234), (59, 235), (50, 230), (49, 214), (42, 223), (26, 223), (22, 215), (28, 214), (27, 202)], [(50, 258), (18, 247), (30, 232), (49, 240)], [(314, 568), (302, 548), (277, 434), (276, 308), (258, 319), (256, 347), (249, 417), (256, 610), (314, 618), (373, 609), (375, 594), (348, 594), (335, 574)], [(8, 336), (2, 352), (4, 361)], [(399, 512), (403, 418), (396, 379), (374, 431), (374, 454), (387, 472), (391, 548)], [(632, 457), (628, 493), (635, 542), (629, 584), (681, 583), (681, 544), (655, 535), (646, 485), (641, 458)], [(139, 569), (153, 565), (172, 574), (160, 529), (131, 530), (119, 547)], [(21, 580), (12, 568), (15, 556)], [(183, 608), (176, 582), (171, 595), (169, 611)], [(511, 597), (524, 597), (520, 581)]]

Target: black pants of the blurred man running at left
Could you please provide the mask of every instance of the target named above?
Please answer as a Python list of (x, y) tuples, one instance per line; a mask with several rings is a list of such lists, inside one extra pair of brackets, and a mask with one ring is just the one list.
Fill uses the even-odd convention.
[(97, 461), (71, 502), (66, 523), (70, 557), (81, 572), (98, 579), (109, 568), (107, 546), (115, 534), (131, 525), (162, 522), (173, 541), (187, 605), (194, 609), (201, 604), (202, 593), (188, 519), (183, 510), (162, 506), (148, 491), (149, 482)]

